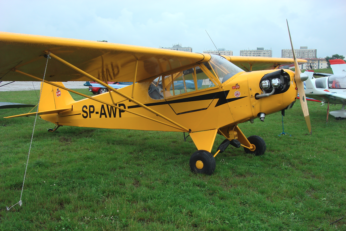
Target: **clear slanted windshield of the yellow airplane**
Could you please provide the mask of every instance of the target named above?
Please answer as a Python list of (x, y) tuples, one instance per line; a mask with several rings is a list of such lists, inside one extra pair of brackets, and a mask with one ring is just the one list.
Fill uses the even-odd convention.
[(215, 72), (213, 74), (219, 77), (221, 83), (224, 83), (227, 79), (231, 78), (235, 74), (244, 71), (219, 55), (211, 55), (209, 63)]

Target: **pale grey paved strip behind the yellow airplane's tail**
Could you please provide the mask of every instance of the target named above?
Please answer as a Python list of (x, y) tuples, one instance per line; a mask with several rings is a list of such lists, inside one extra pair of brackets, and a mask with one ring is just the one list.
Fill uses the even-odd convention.
[[(10, 84), (7, 84), (10, 83)], [(85, 81), (69, 81), (69, 82), (63, 82), (65, 87), (70, 89), (81, 89), (81, 88), (88, 88), (86, 86), (83, 86)], [(7, 84), (6, 86), (4, 86)], [(21, 91), (21, 90), (39, 90), (41, 86), (41, 82), (13, 82), (10, 81), (2, 81), (0, 83), (0, 92), (15, 92), (15, 91)]]

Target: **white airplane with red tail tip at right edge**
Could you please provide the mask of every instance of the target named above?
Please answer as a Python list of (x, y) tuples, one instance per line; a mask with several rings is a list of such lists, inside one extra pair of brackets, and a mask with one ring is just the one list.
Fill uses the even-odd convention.
[[(329, 112), (336, 119), (346, 118), (346, 62), (342, 59), (331, 59), (330, 67), (333, 70), (332, 74), (313, 73), (313, 70), (308, 70), (302, 75), (308, 75), (305, 81), (305, 94), (311, 98), (328, 103), (327, 122), (329, 104), (342, 104), (341, 110)], [(322, 76), (314, 78), (313, 76)]]

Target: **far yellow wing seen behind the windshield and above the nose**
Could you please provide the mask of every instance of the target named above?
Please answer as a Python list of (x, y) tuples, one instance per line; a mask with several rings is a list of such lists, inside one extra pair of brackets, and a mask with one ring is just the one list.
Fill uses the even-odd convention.
[[(233, 64), (245, 71), (271, 70), (279, 68), (294, 67), (293, 59), (290, 58), (270, 58), (270, 57), (253, 57), (253, 56), (223, 56)], [(297, 59), (298, 64), (307, 62), (305, 59)]]

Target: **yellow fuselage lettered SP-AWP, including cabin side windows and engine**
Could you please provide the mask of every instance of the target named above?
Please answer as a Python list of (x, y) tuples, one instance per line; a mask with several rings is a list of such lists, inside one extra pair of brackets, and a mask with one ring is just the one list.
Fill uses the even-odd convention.
[[(208, 63), (198, 64), (186, 70), (140, 81), (118, 89), (118, 91), (126, 95), (131, 95), (133, 92), (135, 100), (192, 132), (234, 126), (257, 118), (259, 113), (272, 114), (287, 108), (297, 98), (294, 72), (291, 70), (281, 71), (284, 76), (280, 77), (279, 74), (279, 79), (284, 79), (280, 89), (274, 89), (274, 94), (257, 99), (256, 95), (270, 92), (273, 89), (262, 89), (261, 80), (266, 78), (264, 76), (267, 74), (278, 72), (278, 70), (244, 72), (239, 68), (240, 70), (230, 73), (231, 71), (225, 69), (222, 64), (220, 65), (220, 70), (217, 70), (211, 61), (209, 66)], [(234, 70), (232, 69), (232, 71)], [(271, 81), (270, 77), (268, 78)], [(181, 85), (179, 81), (186, 81), (186, 85), (184, 88), (175, 89), (174, 84)], [(189, 81), (189, 85), (187, 81)], [(201, 81), (202, 86), (200, 86)], [(53, 91), (54, 89), (53, 87)], [(66, 91), (59, 94), (60, 97), (53, 96), (54, 100), (62, 100), (64, 94), (68, 93)], [(167, 122), (164, 118), (156, 116), (113, 92), (97, 95), (94, 98), (108, 103), (112, 103), (111, 98), (113, 98), (114, 104), (120, 108), (114, 108), (92, 99), (73, 102), (68, 100), (67, 102), (71, 103), (66, 105), (66, 108), (71, 107), (71, 110), (57, 115), (42, 115), (42, 118), (68, 126), (180, 131), (122, 110), (121, 108), (127, 109), (158, 121)]]

